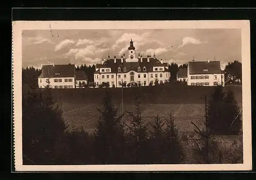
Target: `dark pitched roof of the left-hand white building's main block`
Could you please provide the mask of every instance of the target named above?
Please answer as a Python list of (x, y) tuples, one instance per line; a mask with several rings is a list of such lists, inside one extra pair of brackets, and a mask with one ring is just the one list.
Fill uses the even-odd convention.
[(75, 76), (75, 65), (42, 65), (42, 71), (38, 78), (68, 78)]

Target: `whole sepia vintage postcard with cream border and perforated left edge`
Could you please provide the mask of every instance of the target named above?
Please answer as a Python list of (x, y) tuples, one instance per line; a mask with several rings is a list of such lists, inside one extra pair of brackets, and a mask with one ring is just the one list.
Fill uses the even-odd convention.
[(15, 170), (251, 170), (249, 30), (13, 21)]

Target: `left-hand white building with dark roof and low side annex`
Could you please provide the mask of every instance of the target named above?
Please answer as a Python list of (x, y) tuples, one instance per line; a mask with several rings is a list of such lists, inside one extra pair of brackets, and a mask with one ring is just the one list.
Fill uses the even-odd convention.
[(41, 74), (38, 77), (38, 87), (45, 88), (50, 80), (51, 88), (78, 88), (79, 82), (87, 84), (87, 75), (84, 71), (76, 71), (74, 64), (42, 65)]

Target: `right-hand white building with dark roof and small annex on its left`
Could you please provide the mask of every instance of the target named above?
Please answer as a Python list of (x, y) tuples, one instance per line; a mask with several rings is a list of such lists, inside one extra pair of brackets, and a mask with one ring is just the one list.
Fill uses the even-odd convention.
[(187, 68), (179, 69), (177, 81), (186, 81), (190, 86), (216, 86), (225, 84), (220, 61), (192, 61)]

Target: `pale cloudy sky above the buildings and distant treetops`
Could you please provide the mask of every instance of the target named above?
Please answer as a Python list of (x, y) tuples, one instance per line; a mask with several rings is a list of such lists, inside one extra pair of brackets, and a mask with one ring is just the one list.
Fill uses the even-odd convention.
[(240, 29), (197, 30), (26, 30), (23, 31), (23, 67), (55, 64), (94, 64), (101, 59), (127, 55), (131, 38), (136, 53), (155, 53), (177, 64), (194, 59), (221, 61), (222, 68), (241, 61)]

